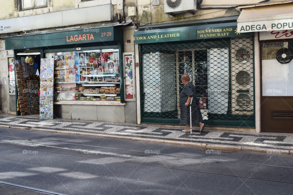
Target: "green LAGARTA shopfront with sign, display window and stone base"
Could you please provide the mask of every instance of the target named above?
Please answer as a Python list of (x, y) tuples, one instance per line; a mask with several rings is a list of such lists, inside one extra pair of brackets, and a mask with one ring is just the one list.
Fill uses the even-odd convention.
[[(42, 64), (35, 65), (38, 55), (54, 58), (55, 117), (125, 120), (121, 27), (9, 36), (5, 38), (5, 48), (14, 51), (15, 62), (23, 65), (24, 72), (31, 67), (40, 69)], [(24, 61), (26, 57), (36, 62), (30, 65)], [(35, 70), (28, 77), (35, 76)], [(16, 86), (17, 82), (20, 81), (16, 79)], [(29, 99), (29, 91), (32, 90), (18, 91), (16, 87), (16, 106), (20, 95)], [(16, 114), (20, 115), (21, 111)]]

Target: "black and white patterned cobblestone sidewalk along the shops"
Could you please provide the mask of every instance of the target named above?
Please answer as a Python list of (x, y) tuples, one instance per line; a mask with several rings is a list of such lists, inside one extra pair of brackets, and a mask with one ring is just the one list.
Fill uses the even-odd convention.
[[(85, 121), (73, 119), (39, 119), (36, 115), (30, 116), (15, 116), (15, 115), (0, 115), (0, 126), (6, 128), (24, 128), (32, 130), (55, 131), (60, 133), (78, 133), (92, 134), (103, 137), (118, 137), (125, 139), (136, 139), (146, 141), (158, 141), (171, 143), (168, 141), (177, 142), (177, 144), (217, 144), (223, 147), (245, 148), (262, 148), (286, 150), (293, 153), (293, 137), (288, 133), (251, 133), (204, 129), (199, 133), (199, 129), (194, 129), (194, 133), (183, 133), (183, 127), (163, 127), (137, 125), (133, 123), (112, 123), (101, 121)], [(143, 139), (141, 139), (143, 138)], [(197, 145), (198, 146), (198, 145)], [(240, 151), (239, 150), (239, 151)], [(249, 150), (249, 148), (246, 148)]]

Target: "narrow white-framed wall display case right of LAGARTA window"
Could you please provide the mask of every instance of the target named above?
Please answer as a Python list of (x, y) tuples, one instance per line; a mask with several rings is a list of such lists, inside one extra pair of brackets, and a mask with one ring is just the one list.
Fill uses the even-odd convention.
[[(124, 78), (125, 78), (125, 100), (134, 101), (134, 79), (133, 79), (133, 53), (123, 53)], [(119, 97), (120, 98), (120, 97)]]

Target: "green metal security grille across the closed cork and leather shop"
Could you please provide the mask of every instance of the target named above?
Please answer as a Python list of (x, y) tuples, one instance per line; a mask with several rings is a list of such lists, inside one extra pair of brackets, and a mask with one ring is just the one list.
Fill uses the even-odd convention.
[(207, 124), (255, 126), (252, 37), (140, 45), (142, 122), (179, 123), (181, 75)]

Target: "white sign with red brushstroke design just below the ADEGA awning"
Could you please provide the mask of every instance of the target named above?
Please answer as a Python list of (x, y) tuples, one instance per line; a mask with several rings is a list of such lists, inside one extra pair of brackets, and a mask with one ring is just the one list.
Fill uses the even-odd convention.
[(259, 32), (259, 40), (293, 39), (293, 30)]

